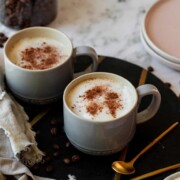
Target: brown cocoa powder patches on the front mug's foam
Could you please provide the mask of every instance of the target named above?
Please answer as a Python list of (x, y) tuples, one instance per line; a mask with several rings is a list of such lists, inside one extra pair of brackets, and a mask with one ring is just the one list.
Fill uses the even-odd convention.
[[(98, 104), (95, 102), (98, 96), (104, 96), (103, 103)], [(107, 107), (112, 117), (116, 118), (117, 109), (123, 108), (120, 96), (105, 86), (95, 86), (94, 88), (87, 90), (81, 97), (90, 101), (86, 110), (93, 116), (101, 112), (103, 107)]]

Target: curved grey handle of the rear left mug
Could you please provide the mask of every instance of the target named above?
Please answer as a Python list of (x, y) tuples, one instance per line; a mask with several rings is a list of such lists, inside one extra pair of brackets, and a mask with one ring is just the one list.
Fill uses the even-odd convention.
[[(98, 68), (98, 55), (96, 54), (96, 51), (89, 46), (78, 46), (74, 48), (74, 55), (75, 57), (77, 56), (89, 56), (92, 59), (92, 67), (91, 67), (91, 72), (94, 72)], [(78, 76), (79, 73), (76, 73), (75, 75)], [(82, 74), (82, 72), (81, 72)]]

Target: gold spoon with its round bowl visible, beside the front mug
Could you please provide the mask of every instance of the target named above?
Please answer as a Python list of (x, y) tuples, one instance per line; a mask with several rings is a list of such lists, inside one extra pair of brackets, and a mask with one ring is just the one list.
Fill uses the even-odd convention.
[(154, 139), (149, 145), (147, 145), (139, 154), (137, 154), (131, 161), (115, 161), (112, 163), (112, 168), (119, 174), (133, 174), (135, 172), (134, 163), (135, 161), (142, 156), (146, 151), (148, 151), (152, 146), (154, 146), (158, 141), (160, 141), (167, 133), (169, 133), (174, 127), (176, 127), (179, 123), (176, 122), (171, 125), (167, 130), (165, 130), (162, 134), (160, 134), (156, 139)]

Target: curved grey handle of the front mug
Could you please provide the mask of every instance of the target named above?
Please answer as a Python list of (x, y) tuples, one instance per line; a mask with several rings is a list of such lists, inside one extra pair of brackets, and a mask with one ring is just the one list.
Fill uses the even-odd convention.
[(161, 95), (158, 89), (151, 84), (141, 85), (136, 89), (138, 93), (138, 104), (141, 103), (143, 97), (152, 95), (152, 101), (149, 106), (137, 114), (136, 122), (140, 124), (151, 119), (157, 113), (161, 103)]

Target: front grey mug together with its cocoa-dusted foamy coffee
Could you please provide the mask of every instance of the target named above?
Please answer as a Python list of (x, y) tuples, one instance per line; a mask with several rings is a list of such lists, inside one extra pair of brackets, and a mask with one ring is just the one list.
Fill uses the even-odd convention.
[[(152, 101), (137, 111), (148, 95)], [(71, 144), (84, 153), (113, 154), (127, 146), (136, 124), (151, 119), (160, 102), (160, 93), (151, 84), (135, 88), (124, 77), (107, 72), (81, 75), (64, 90), (64, 131)]]

